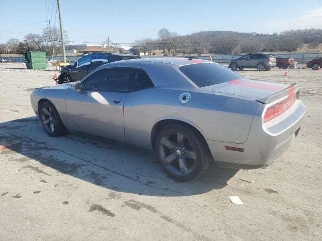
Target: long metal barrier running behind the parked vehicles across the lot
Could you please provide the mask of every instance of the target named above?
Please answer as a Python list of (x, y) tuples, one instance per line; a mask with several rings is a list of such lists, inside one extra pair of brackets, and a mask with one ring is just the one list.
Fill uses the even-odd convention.
[[(293, 53), (293, 54), (278, 54), (280, 57), (282, 58), (294, 58), (295, 61), (297, 61), (298, 63), (306, 63), (311, 59), (316, 59), (316, 58), (320, 58), (320, 53)], [(188, 55), (189, 56), (189, 55)], [(203, 55), (203, 56), (194, 56), (194, 57), (198, 57), (199, 59), (205, 59), (205, 60), (209, 60), (209, 56), (212, 57), (212, 60), (214, 62), (218, 62), (218, 63), (228, 63), (230, 60), (232, 59), (236, 59), (239, 58), (240, 56), (243, 56), (242, 54), (232, 54), (232, 55)], [(82, 58), (83, 56), (66, 56), (67, 62), (74, 62), (77, 61), (78, 59)], [(155, 57), (160, 57), (160, 56), (141, 56), (141, 58), (155, 58)], [(187, 56), (161, 56), (161, 57), (170, 57), (170, 58), (175, 58), (175, 57), (179, 57), (179, 58), (185, 58)], [(10, 60), (11, 62), (25, 62), (25, 57), (24, 56), (16, 56), (16, 57), (8, 57), (8, 56), (1, 56), (0, 55), (0, 59), (7, 59)], [(63, 62), (63, 58), (62, 56), (47, 56), (48, 60), (56, 60), (56, 61), (60, 61)]]

